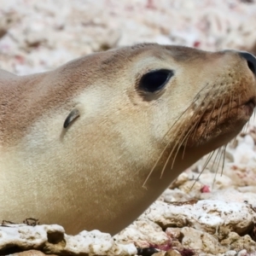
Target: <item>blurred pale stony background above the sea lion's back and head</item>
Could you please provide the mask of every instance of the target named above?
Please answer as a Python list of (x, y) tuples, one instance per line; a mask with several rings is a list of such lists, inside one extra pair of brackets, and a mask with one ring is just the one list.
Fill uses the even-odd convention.
[(142, 42), (256, 53), (256, 3), (0, 0), (0, 67), (10, 72), (42, 72), (81, 55)]

